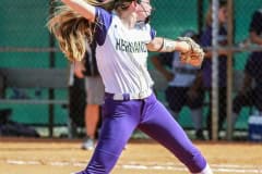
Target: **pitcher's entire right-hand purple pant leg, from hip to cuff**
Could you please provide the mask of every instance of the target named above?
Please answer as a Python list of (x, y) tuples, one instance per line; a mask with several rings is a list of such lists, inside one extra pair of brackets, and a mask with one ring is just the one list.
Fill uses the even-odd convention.
[(203, 170), (205, 159), (166, 108), (155, 101), (145, 110), (139, 128), (170, 150), (192, 173)]

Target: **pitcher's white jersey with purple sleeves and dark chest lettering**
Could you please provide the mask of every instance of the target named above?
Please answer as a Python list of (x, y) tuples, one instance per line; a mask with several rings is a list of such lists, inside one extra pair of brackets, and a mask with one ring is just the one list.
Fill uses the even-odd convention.
[(147, 48), (155, 33), (148, 24), (129, 29), (115, 13), (96, 8), (99, 22), (95, 39), (96, 60), (105, 91), (139, 94), (151, 90), (153, 80), (147, 72)]

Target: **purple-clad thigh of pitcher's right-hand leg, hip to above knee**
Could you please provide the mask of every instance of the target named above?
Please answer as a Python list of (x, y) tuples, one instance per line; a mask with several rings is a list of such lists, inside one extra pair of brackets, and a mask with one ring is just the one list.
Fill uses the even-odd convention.
[(193, 148), (184, 130), (158, 101), (147, 110), (139, 128), (178, 157), (189, 154)]

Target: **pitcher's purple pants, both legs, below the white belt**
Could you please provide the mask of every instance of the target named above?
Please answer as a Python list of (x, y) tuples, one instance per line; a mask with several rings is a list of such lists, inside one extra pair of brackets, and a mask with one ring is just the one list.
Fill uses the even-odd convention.
[(206, 165), (204, 157), (154, 95), (128, 101), (116, 101), (106, 95), (103, 116), (95, 152), (79, 174), (110, 173), (135, 128), (169, 149), (190, 172), (199, 173)]

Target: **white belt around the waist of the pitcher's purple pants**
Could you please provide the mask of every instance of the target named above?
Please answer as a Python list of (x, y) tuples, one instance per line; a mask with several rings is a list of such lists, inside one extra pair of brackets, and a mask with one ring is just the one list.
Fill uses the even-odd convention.
[(105, 92), (105, 97), (109, 97), (114, 100), (119, 100), (119, 101), (129, 101), (129, 100), (141, 100), (150, 97), (152, 94), (152, 89), (141, 91), (139, 94), (110, 94), (110, 92)]

